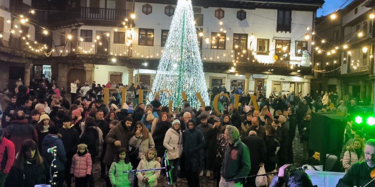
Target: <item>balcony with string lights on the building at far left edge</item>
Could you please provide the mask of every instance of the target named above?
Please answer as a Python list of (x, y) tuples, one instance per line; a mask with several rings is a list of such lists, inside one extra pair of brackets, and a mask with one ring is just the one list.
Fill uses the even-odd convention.
[[(34, 41), (28, 39), (22, 39), (20, 36), (10, 34), (8, 32), (2, 32), (2, 37), (0, 38), (1, 45), (9, 49), (15, 49), (17, 51), (24, 51), (35, 54), (43, 54), (40, 50), (44, 47), (42, 43), (34, 43)], [(27, 44), (26, 44), (27, 43)]]

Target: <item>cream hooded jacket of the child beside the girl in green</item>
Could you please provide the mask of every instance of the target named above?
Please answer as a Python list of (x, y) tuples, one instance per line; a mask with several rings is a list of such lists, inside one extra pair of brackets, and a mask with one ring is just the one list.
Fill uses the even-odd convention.
[[(137, 170), (154, 169), (160, 168), (160, 162), (156, 161), (155, 158), (148, 161), (146, 156), (142, 156), (141, 160), (136, 167)], [(143, 178), (148, 178), (149, 187), (155, 187), (157, 185), (157, 178), (160, 176), (160, 170), (137, 172), (136, 177), (138, 178), (138, 187), (146, 187), (146, 184), (142, 182)]]

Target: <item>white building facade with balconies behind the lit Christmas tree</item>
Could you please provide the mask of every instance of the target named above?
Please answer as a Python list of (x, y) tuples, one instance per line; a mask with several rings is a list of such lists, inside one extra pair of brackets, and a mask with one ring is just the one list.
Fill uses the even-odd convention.
[[(47, 16), (37, 24), (46, 24), (50, 32), (49, 40), (44, 39), (50, 56), (40, 55), (37, 63), (50, 65), (51, 79), (67, 89), (76, 79), (99, 84), (142, 81), (152, 86), (175, 4), (150, 2), (31, 2), (44, 8), (40, 14)], [(309, 93), (312, 66), (306, 54), (313, 48), (303, 36), (314, 27), (322, 3), (192, 0), (206, 86), (241, 87), (246, 93), (260, 91), (267, 96), (273, 88)], [(44, 29), (39, 30), (35, 36)]]

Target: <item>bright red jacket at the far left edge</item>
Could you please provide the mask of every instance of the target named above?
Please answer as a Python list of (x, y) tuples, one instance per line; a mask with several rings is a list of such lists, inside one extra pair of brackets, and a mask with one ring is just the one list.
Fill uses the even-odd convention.
[(9, 173), (14, 163), (14, 155), (14, 144), (3, 137), (0, 141), (0, 171), (2, 173)]

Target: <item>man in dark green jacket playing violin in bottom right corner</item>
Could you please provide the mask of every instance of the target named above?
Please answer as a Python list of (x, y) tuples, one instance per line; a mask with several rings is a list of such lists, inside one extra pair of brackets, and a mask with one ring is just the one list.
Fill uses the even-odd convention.
[[(338, 180), (336, 187), (362, 187), (371, 180), (370, 173), (375, 169), (375, 139), (367, 140), (364, 147), (364, 162), (354, 163), (349, 171)], [(368, 187), (373, 187), (372, 182)]]

